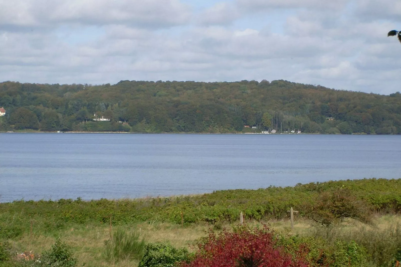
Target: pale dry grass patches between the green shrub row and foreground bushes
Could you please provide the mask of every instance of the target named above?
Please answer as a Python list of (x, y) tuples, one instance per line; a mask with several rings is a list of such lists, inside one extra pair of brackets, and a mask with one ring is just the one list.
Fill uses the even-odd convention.
[[(271, 229), (277, 231), (290, 231), (290, 220), (277, 220), (267, 222), (247, 222), (248, 225), (257, 226), (262, 224), (268, 225)], [(366, 226), (355, 220), (346, 220), (340, 225), (344, 231), (354, 231), (356, 229), (387, 229), (391, 225), (401, 224), (401, 216), (385, 215), (375, 218), (375, 225)], [(307, 234), (315, 228), (316, 223), (296, 218), (294, 223), (294, 234)], [(213, 225), (197, 224), (182, 228), (180, 225), (170, 223), (140, 223), (136, 225), (126, 226), (129, 230), (140, 229), (141, 236), (146, 238), (147, 242), (168, 242), (174, 247), (187, 247), (193, 249), (191, 245), (200, 237), (206, 236), (207, 230), (213, 228)], [(224, 224), (224, 228), (231, 229), (233, 225)], [(79, 265), (86, 263), (85, 266), (110, 266), (105, 263), (102, 253), (104, 251), (104, 241), (110, 238), (108, 226), (81, 226), (77, 225), (69, 229), (64, 229), (46, 236), (25, 235), (19, 241), (13, 243), (16, 251), (33, 251), (34, 254), (40, 254), (42, 251), (50, 249), (55, 243), (57, 237), (71, 245), (74, 254), (79, 259)], [(138, 261), (121, 261), (115, 267), (132, 267), (137, 266)]]

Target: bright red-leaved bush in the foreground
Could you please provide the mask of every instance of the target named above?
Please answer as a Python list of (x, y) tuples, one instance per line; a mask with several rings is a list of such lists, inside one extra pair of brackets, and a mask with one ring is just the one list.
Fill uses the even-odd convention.
[(301, 259), (277, 247), (269, 229), (223, 231), (198, 243), (199, 251), (182, 267), (306, 267)]

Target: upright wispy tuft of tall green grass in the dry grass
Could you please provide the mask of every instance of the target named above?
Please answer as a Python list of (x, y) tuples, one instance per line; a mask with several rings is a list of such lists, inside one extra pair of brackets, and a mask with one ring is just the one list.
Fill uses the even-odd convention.
[(140, 233), (134, 230), (128, 233), (122, 228), (115, 231), (111, 240), (105, 241), (104, 256), (110, 263), (119, 260), (141, 259), (144, 254), (145, 238), (140, 238)]

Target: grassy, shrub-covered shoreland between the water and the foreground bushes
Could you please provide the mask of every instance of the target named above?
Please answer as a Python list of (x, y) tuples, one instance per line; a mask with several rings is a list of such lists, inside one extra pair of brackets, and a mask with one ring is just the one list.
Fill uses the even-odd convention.
[[(114, 264), (103, 255), (110, 239), (110, 218), (112, 235), (118, 228), (138, 231), (147, 243), (196, 251), (196, 241), (208, 231), (238, 226), (241, 211), (246, 225), (268, 225), (293, 250), (304, 242), (315, 253), (325, 249), (334, 262), (338, 253), (347, 255), (356, 243), (363, 266), (385, 267), (401, 257), (399, 192), (401, 180), (364, 179), (166, 198), (14, 201), (0, 203), (0, 245), (9, 243), (13, 256), (24, 251), (41, 255), (60, 238), (72, 247), (78, 266), (110, 266)], [(290, 207), (300, 211), (292, 231)], [(122, 260), (115, 266), (138, 262)]]

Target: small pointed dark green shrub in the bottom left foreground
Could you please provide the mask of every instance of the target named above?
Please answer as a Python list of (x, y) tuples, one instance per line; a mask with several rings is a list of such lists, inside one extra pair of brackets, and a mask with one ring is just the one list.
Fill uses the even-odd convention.
[(45, 251), (38, 260), (34, 261), (32, 266), (75, 267), (77, 266), (77, 258), (74, 257), (69, 245), (57, 239), (52, 248), (49, 251)]

